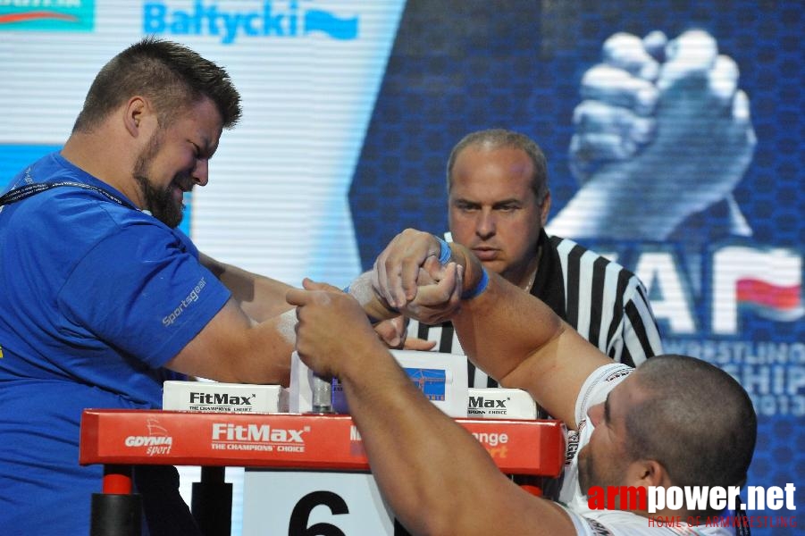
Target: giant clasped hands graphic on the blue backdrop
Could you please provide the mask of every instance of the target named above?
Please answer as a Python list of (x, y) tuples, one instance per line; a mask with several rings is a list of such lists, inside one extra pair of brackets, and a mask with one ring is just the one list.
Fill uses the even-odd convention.
[(725, 200), (733, 232), (750, 234), (732, 196), (756, 145), (738, 75), (701, 30), (670, 43), (659, 32), (608, 38), (574, 111), (570, 160), (581, 188), (549, 232), (667, 239), (687, 217)]

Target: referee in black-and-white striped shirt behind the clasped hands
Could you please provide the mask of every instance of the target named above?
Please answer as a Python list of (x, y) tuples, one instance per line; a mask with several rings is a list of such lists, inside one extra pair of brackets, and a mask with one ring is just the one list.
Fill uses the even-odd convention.
[[(620, 264), (569, 239), (549, 237), (545, 156), (509, 130), (473, 132), (447, 167), (449, 228), (482, 264), (539, 297), (585, 339), (617, 362), (637, 366), (662, 351), (646, 290)], [(426, 342), (430, 341), (430, 342)], [(449, 322), (411, 321), (406, 348), (465, 352)], [(498, 383), (467, 362), (470, 387)]]

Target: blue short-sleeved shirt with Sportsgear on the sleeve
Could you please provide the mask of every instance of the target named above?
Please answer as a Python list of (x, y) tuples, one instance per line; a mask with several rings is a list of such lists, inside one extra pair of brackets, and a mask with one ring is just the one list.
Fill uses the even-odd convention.
[(0, 208), (0, 534), (87, 534), (101, 466), (84, 408), (158, 408), (164, 368), (230, 297), (179, 230), (58, 153), (14, 178), (70, 180)]

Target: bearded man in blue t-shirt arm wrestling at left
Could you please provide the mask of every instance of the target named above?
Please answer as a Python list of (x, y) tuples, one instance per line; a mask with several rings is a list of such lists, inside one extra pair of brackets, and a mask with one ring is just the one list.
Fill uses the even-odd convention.
[[(84, 408), (160, 407), (163, 381), (184, 374), (288, 383), (288, 286), (176, 229), (239, 117), (226, 71), (143, 39), (98, 73), (63, 149), (0, 201), (0, 533), (88, 533), (102, 468), (78, 464)], [(134, 476), (151, 534), (197, 533), (175, 470)]]

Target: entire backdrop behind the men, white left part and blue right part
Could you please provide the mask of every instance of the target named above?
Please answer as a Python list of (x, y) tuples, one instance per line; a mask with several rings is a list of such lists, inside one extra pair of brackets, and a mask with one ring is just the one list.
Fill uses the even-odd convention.
[[(224, 65), (244, 98), (184, 229), (205, 253), (290, 284), (344, 286), (399, 230), (444, 232), (450, 149), (473, 130), (524, 132), (548, 157), (549, 233), (636, 272), (666, 351), (742, 382), (759, 414), (748, 483), (793, 482), (805, 506), (803, 11), (0, 2), (0, 185), (61, 147), (96, 71), (151, 33)], [(630, 92), (635, 80), (649, 94)]]

